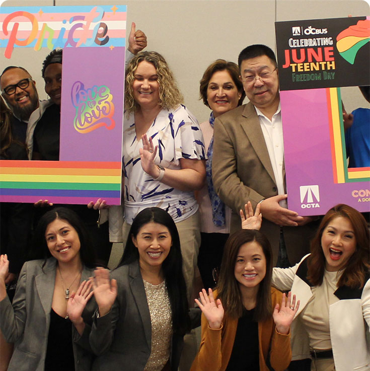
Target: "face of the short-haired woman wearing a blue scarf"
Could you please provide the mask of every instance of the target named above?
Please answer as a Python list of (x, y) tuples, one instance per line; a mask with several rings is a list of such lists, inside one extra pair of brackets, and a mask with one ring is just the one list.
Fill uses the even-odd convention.
[(242, 94), (238, 91), (227, 70), (216, 71), (209, 80), (207, 102), (214, 117), (238, 106)]

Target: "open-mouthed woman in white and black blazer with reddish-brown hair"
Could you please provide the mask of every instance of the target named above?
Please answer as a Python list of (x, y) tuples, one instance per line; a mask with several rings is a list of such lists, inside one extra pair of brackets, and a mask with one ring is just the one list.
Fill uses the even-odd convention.
[(340, 204), (324, 216), (311, 254), (294, 267), (273, 269), (272, 284), (301, 300), (293, 323), (303, 325), (310, 348), (304, 349), (303, 334), (296, 332), (293, 359), (311, 353), (315, 371), (370, 370), (369, 267), (365, 219)]

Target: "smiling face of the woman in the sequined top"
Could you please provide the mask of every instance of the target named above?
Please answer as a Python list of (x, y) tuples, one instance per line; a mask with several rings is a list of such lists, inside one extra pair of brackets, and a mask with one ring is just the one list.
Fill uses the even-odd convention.
[(132, 236), (132, 242), (139, 252), (140, 268), (145, 270), (161, 268), (170, 252), (172, 237), (165, 225), (150, 222), (139, 229), (136, 237)]

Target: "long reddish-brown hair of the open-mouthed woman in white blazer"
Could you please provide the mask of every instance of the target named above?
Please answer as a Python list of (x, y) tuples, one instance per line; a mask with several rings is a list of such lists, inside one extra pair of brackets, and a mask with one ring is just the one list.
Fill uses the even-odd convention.
[(311, 255), (307, 262), (307, 278), (315, 286), (323, 283), (326, 260), (321, 246), (321, 237), (326, 226), (338, 216), (348, 219), (351, 223), (356, 238), (356, 250), (349, 258), (337, 286), (346, 285), (353, 289), (362, 288), (370, 267), (369, 230), (361, 213), (344, 204), (334, 206), (323, 217), (319, 229), (311, 241)]

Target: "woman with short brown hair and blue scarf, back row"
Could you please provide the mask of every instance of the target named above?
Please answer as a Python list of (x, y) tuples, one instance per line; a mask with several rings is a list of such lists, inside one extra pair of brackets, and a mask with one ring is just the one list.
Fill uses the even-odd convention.
[(200, 212), (201, 244), (198, 267), (204, 287), (213, 287), (212, 271), (219, 270), (225, 242), (229, 237), (231, 209), (218, 197), (213, 188), (213, 122), (219, 115), (243, 103), (245, 92), (239, 78), (239, 68), (234, 62), (217, 59), (205, 70), (200, 80), (200, 98), (212, 111), (209, 120), (200, 124), (204, 137), (206, 184), (196, 193)]

